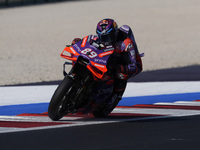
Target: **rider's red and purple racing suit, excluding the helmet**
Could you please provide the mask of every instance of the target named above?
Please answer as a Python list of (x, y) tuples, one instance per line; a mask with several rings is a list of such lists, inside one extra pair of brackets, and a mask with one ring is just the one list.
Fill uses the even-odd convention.
[[(142, 71), (142, 60), (131, 28), (123, 25), (119, 28), (118, 39), (114, 44), (115, 52), (111, 58), (116, 70), (114, 92), (123, 95), (127, 80)], [(119, 68), (119, 67), (117, 67)]]

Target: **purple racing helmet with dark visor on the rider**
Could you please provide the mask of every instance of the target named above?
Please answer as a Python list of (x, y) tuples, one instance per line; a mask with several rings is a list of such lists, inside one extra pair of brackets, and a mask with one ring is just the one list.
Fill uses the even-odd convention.
[(104, 45), (113, 44), (118, 35), (118, 26), (113, 19), (103, 19), (99, 21), (96, 28), (99, 42)]

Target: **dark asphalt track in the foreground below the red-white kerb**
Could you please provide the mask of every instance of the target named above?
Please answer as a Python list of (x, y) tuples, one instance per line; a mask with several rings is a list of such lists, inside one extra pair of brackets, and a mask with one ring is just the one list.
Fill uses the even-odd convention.
[(200, 116), (1, 134), (1, 149), (198, 150)]

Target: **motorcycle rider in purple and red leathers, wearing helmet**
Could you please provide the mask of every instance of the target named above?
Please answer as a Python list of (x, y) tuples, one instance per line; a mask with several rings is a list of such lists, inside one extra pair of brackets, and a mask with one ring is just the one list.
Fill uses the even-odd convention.
[[(121, 100), (127, 80), (142, 71), (142, 61), (131, 28), (123, 25), (118, 28), (113, 19), (103, 19), (97, 24), (97, 36), (93, 41), (105, 46), (112, 45), (115, 49), (110, 58), (115, 67), (114, 91), (108, 98), (109, 103)], [(75, 38), (72, 44), (81, 39)]]

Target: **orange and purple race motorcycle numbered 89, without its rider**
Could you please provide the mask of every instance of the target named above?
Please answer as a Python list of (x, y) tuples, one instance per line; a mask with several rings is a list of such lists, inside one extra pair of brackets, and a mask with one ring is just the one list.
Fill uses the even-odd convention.
[[(60, 56), (72, 63), (64, 63), (64, 79), (49, 103), (48, 115), (52, 120), (57, 121), (69, 113), (106, 117), (112, 112), (119, 102), (107, 101), (114, 86), (114, 69), (109, 59), (113, 53), (114, 47), (91, 42), (90, 36), (65, 47)], [(69, 64), (72, 68), (66, 73), (65, 65)]]

